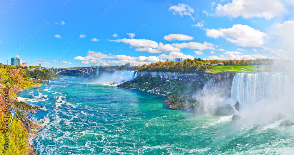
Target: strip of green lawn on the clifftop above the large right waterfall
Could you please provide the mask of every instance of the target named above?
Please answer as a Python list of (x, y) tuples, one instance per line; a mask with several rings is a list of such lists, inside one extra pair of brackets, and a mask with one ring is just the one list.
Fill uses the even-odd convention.
[(264, 71), (268, 70), (269, 66), (214, 66), (213, 71)]

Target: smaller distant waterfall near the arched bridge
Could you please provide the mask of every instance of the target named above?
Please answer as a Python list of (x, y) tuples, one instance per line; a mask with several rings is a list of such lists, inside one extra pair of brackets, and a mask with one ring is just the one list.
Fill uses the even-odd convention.
[(104, 85), (117, 86), (123, 82), (133, 80), (138, 76), (137, 71), (114, 71), (114, 73), (102, 73), (97, 82)]

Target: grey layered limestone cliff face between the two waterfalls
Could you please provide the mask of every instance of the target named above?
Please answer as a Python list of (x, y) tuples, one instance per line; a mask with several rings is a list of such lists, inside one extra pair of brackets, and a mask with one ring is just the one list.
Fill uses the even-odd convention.
[(199, 84), (208, 82), (213, 86), (231, 85), (235, 73), (176, 73), (176, 72), (142, 72), (138, 71), (138, 76), (150, 74), (152, 77), (159, 76), (166, 80), (181, 80), (187, 82), (197, 82)]

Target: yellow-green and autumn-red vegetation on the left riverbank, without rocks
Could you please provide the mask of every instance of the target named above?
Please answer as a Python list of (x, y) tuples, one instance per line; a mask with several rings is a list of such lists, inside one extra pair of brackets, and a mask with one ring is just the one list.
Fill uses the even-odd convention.
[[(13, 67), (13, 66), (12, 66)], [(21, 106), (21, 103), (18, 102), (16, 98), (16, 93), (21, 90), (21, 88), (39, 86), (39, 83), (35, 83), (40, 80), (32, 80), (31, 78), (38, 78), (41, 80), (49, 80), (52, 78), (61, 77), (60, 75), (53, 75), (48, 70), (17, 70), (12, 68), (2, 68), (0, 66), (0, 154), (4, 155), (19, 155), (19, 154), (36, 154), (36, 151), (32, 150), (28, 143), (28, 132), (26, 128), (24, 128), (24, 124), (21, 124), (18, 118), (18, 114), (21, 115), (21, 110), (16, 110), (14, 103), (17, 103), (18, 106)], [(7, 94), (5, 93), (5, 88), (8, 89)], [(7, 90), (6, 90), (7, 91)], [(6, 95), (6, 96), (5, 96)], [(8, 97), (9, 103), (5, 104), (5, 97)], [(6, 99), (7, 101), (7, 99)], [(26, 105), (26, 104), (22, 104)], [(26, 106), (25, 106), (26, 107)], [(13, 117), (13, 111), (19, 111), (16, 113), (17, 117)], [(9, 118), (5, 118), (9, 117)], [(6, 121), (7, 120), (7, 121)], [(28, 118), (24, 118), (24, 120), (28, 120)], [(6, 122), (4, 122), (6, 121)], [(5, 132), (4, 128), (6, 128), (6, 123), (9, 122), (8, 133)], [(26, 124), (29, 123), (31, 129), (34, 129), (36, 123), (27, 121)], [(32, 124), (31, 124), (32, 123)], [(6, 130), (7, 131), (7, 130)], [(9, 148), (5, 149), (4, 143), (5, 138), (8, 138)], [(3, 143), (4, 142), (4, 143)], [(34, 153), (33, 153), (34, 152)]]

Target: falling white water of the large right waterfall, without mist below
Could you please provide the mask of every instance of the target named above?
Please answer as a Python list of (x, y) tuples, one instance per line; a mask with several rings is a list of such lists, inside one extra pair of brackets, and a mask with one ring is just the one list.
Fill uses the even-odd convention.
[[(281, 94), (293, 87), (292, 75), (283, 73), (236, 73), (231, 98), (244, 104), (253, 104)], [(271, 99), (270, 99), (271, 100)]]

